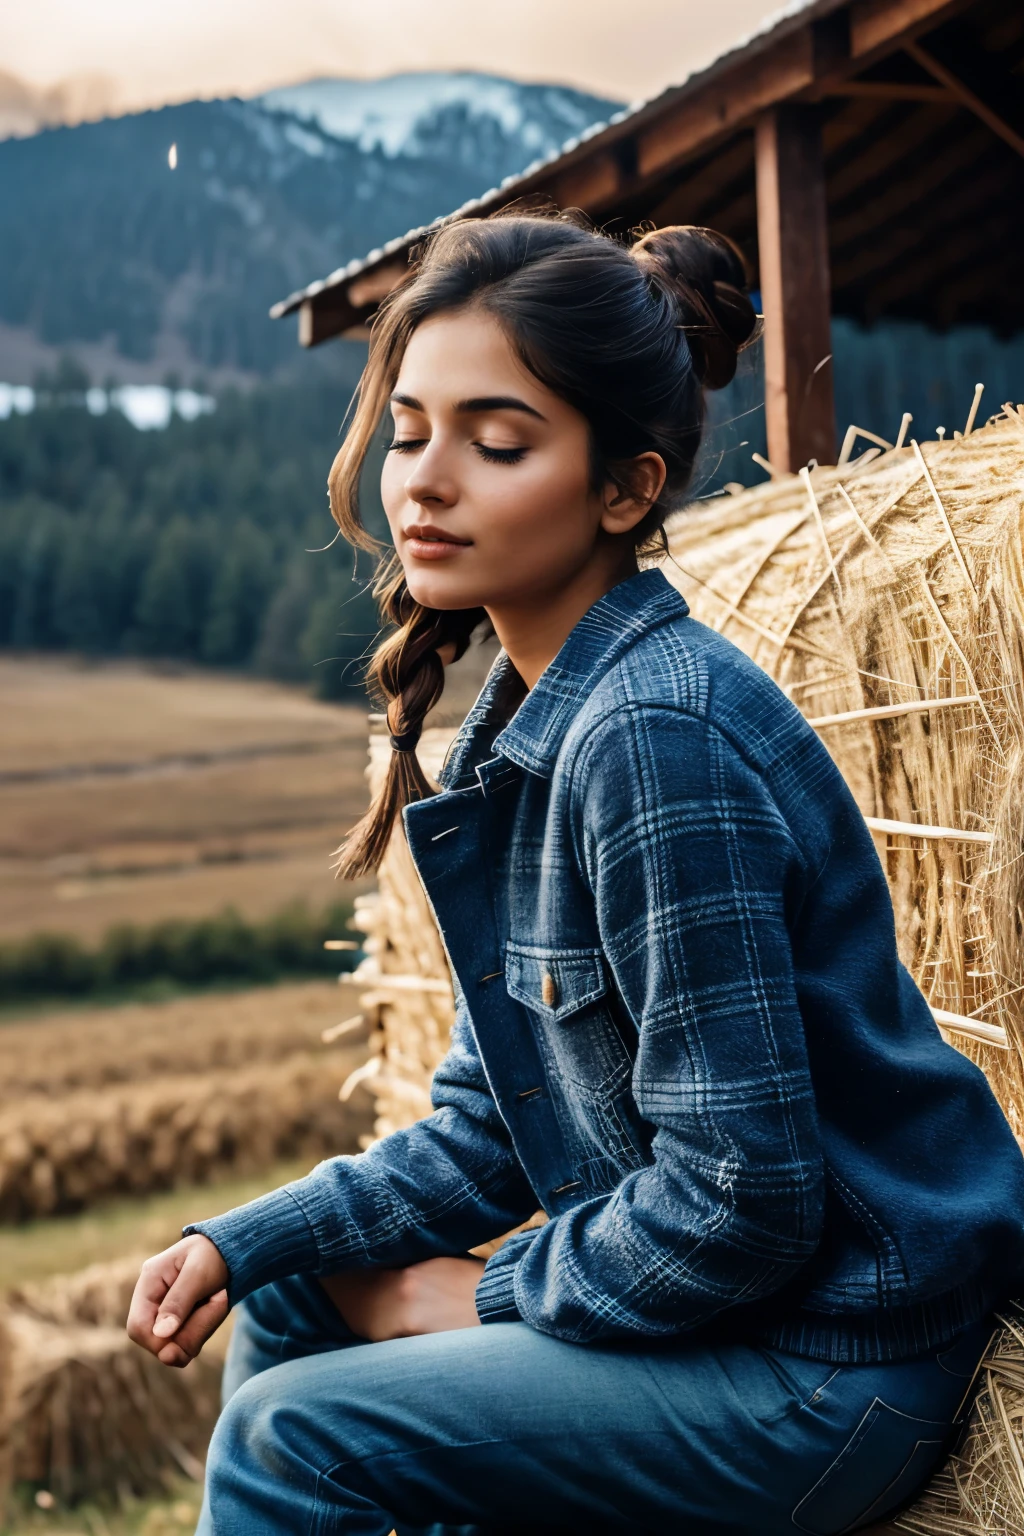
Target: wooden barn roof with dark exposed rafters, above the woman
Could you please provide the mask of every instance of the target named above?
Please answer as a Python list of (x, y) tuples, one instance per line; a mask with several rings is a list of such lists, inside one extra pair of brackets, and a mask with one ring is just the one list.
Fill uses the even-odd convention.
[[(1024, 6), (1006, 0), (797, 0), (457, 212), (540, 194), (620, 230), (714, 224), (755, 267), (754, 129), (781, 104), (821, 115), (834, 312), (1024, 327)], [(298, 310), (307, 346), (364, 324), (430, 227), (272, 315)]]

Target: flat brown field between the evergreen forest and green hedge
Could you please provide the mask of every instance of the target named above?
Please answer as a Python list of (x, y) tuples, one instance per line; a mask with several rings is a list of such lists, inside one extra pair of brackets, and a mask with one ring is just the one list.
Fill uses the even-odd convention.
[(247, 677), (0, 659), (0, 938), (263, 917), (342, 892), (367, 802), (353, 705)]

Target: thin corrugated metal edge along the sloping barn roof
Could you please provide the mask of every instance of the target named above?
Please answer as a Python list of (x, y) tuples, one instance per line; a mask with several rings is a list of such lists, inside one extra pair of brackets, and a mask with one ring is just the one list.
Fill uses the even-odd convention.
[(418, 240), (422, 240), (424, 235), (430, 233), (431, 229), (438, 229), (438, 226), (448, 218), (470, 218), (474, 214), (490, 212), (496, 204), (508, 201), (510, 195), (514, 194), (516, 189), (520, 192), (528, 190), (528, 184), (545, 170), (550, 170), (551, 166), (559, 161), (571, 163), (574, 157), (580, 155), (582, 151), (593, 144), (593, 140), (605, 138), (613, 141), (620, 138), (623, 135), (623, 124), (626, 124), (628, 131), (646, 117), (656, 117), (669, 101), (679, 100), (697, 84), (712, 78), (715, 74), (723, 72), (731, 63), (738, 61), (743, 55), (758, 54), (769, 40), (774, 41), (777, 37), (786, 35), (791, 28), (803, 25), (811, 15), (826, 15), (829, 11), (835, 11), (844, 3), (846, 0), (791, 0), (788, 6), (783, 6), (781, 11), (774, 11), (758, 28), (748, 32), (738, 43), (734, 43), (732, 48), (726, 49), (725, 54), (718, 54), (717, 58), (714, 58), (709, 65), (705, 65), (702, 69), (694, 69), (679, 84), (668, 86), (665, 91), (659, 91), (657, 95), (648, 97), (646, 100), (631, 103), (622, 111), (614, 112), (603, 123), (593, 123), (583, 134), (567, 140), (560, 149), (543, 157), (542, 160), (534, 160), (533, 164), (525, 167), (525, 170), (520, 170), (513, 177), (505, 177), (499, 186), (490, 187), (487, 192), (481, 194), (481, 197), (470, 198), (470, 201), (464, 203), (461, 207), (438, 215), (438, 218), (431, 220), (428, 224), (421, 224), (416, 229), (408, 229), (404, 235), (396, 235), (395, 240), (388, 240), (387, 244), (367, 252), (365, 257), (345, 263), (344, 267), (338, 267), (318, 283), (310, 283), (309, 287), (298, 289), (295, 293), (290, 293), (286, 300), (281, 300), (270, 309), (270, 318), (279, 319), (282, 315), (290, 315), (306, 300), (316, 298), (319, 293), (339, 287), (342, 283), (348, 283), (352, 278), (359, 276), (359, 273), (381, 266), (388, 257), (398, 255), (399, 250), (407, 250), (410, 246), (415, 246)]

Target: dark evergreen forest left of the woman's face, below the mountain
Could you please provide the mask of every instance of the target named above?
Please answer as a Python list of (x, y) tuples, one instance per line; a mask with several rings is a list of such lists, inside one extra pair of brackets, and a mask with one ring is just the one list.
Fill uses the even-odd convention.
[(370, 565), (353, 581), (352, 550), (325, 548), (325, 482), (362, 349), (333, 362), (329, 378), (223, 392), (163, 432), (86, 410), (71, 359), (40, 381), (37, 409), (0, 421), (0, 647), (358, 691)]

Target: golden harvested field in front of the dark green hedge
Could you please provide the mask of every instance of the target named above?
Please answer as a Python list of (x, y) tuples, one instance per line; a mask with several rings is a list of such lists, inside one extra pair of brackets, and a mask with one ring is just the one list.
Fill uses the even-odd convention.
[(57, 1501), (15, 1498), (17, 1527), (193, 1519), (223, 1336), (183, 1375), (129, 1344), (138, 1264), (186, 1221), (358, 1150), (368, 1095), (338, 1094), (365, 1037), (321, 1040), (352, 1006), (307, 982), (0, 1026), (0, 1505), (11, 1482)]

